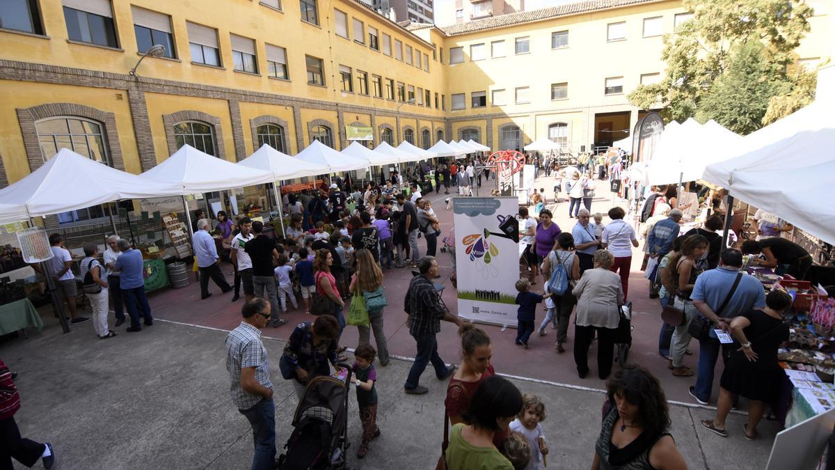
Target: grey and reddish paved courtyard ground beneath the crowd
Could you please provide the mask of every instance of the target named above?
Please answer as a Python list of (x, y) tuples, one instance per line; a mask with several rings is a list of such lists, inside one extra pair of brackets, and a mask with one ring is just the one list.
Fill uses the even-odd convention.
[[(540, 186), (551, 188), (553, 184), (539, 178), (537, 187)], [(608, 191), (599, 190), (598, 194), (593, 212), (606, 212), (613, 202)], [(452, 211), (444, 208), (445, 195), (433, 193), (429, 197), (437, 201), (434, 207), (442, 230), (448, 230)], [(574, 220), (567, 217), (567, 203), (559, 203), (554, 212), (556, 222), (564, 230), (574, 226)], [(419, 244), (423, 251), (425, 243), (420, 240)], [(455, 292), (447, 280), (450, 259), (446, 253), (438, 255), (441, 280), (448, 286), (444, 300), (455, 311)], [(706, 432), (698, 424), (713, 416), (715, 408), (696, 405), (686, 393), (695, 379), (673, 377), (666, 369), (666, 361), (657, 355), (658, 304), (646, 296), (647, 284), (638, 271), (638, 249), (633, 261), (630, 299), (634, 303), (635, 330), (630, 357), (660, 378), (671, 401), (672, 433), (689, 467), (765, 467), (779, 431), (777, 423), (763, 421), (759, 429), (762, 437), (755, 442), (746, 442), (741, 435), (744, 415), (731, 414), (731, 437), (727, 439)], [(223, 269), (231, 281), (230, 265), (224, 264)], [(402, 383), (415, 353), (402, 313), (402, 294), (412, 274), (408, 269), (384, 273), (389, 299), (385, 331), (392, 355), (400, 359), (378, 368), (378, 420), (383, 435), (373, 442), (362, 461), (354, 457), (360, 427), (352, 394), (349, 437), (354, 447), (349, 452), (349, 462), (356, 468), (431, 468), (442, 438), (445, 386), (427, 373), (422, 383), (429, 386), (428, 395), (403, 394)], [(539, 289), (541, 285), (538, 284)], [(228, 396), (223, 349), (225, 330), (240, 322), (241, 301), (231, 303), (231, 294), (221, 295), (214, 285), (210, 289), (215, 295), (200, 300), (200, 289), (192, 277), (185, 289), (149, 294), (158, 321), (139, 334), (124, 333), (124, 327), (120, 327), (117, 338), (100, 341), (95, 338), (93, 327), (83, 324), (69, 335), (61, 335), (57, 322), (48, 318), (51, 315), (42, 313), (42, 335), (0, 345), (0, 357), (21, 374), (18, 387), (23, 408), (17, 418), (23, 434), (53, 442), (60, 452), (60, 468), (247, 468), (251, 437), (245, 418)], [(543, 315), (538, 312), (539, 319)], [(281, 380), (278, 358), (292, 326), (311, 319), (305, 318), (301, 309), (286, 318), (290, 320), (286, 326), (264, 332), (270, 338), (266, 347), (276, 385), (276, 432), (280, 445), (290, 436), (296, 396), (291, 386)], [(535, 336), (530, 350), (521, 350), (514, 345), (513, 328), (483, 328), (493, 339), (496, 370), (514, 377), (520, 390), (544, 398), (549, 415), (544, 430), (552, 449), (549, 467), (588, 467), (600, 430), (605, 388), (595, 370), (586, 379), (579, 379), (571, 353), (558, 355), (554, 351), (553, 330), (544, 338)], [(569, 351), (572, 337), (573, 329), (569, 330)], [(444, 360), (460, 362), (460, 344), (452, 324), (442, 324), (438, 342)], [(342, 344), (357, 344), (356, 329), (347, 328)], [(694, 355), (687, 362), (695, 366), (696, 342), (691, 350)], [(592, 345), (590, 355), (595, 354)], [(590, 367), (595, 366), (595, 361), (590, 360)], [(720, 374), (721, 365), (717, 365), (716, 382)], [(715, 400), (716, 393), (712, 402)]]

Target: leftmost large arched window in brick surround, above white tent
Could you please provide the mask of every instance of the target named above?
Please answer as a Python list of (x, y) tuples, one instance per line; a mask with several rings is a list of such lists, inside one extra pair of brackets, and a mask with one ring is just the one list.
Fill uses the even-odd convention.
[(69, 149), (92, 160), (113, 166), (104, 146), (102, 125), (78, 117), (57, 117), (35, 124), (43, 161), (61, 149)]

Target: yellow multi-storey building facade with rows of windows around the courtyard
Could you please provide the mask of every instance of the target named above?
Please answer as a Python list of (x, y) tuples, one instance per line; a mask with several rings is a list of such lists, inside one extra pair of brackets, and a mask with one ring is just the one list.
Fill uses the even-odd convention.
[[(807, 65), (832, 55), (831, 6), (812, 3)], [(354, 0), (8, 0), (0, 187), (61, 147), (139, 173), (184, 143), (229, 161), (262, 143), (340, 150), (346, 126), (372, 128), (370, 146), (545, 136), (588, 151), (628, 135), (640, 110), (626, 95), (660, 79), (662, 35), (689, 13), (678, 0), (569, 7), (435, 28)], [(156, 43), (163, 56), (142, 59)]]

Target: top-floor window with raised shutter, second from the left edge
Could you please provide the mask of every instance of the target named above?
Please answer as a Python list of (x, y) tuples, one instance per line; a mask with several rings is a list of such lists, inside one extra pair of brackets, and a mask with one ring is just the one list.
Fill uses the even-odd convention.
[(63, 18), (73, 41), (119, 47), (109, 0), (63, 0)]

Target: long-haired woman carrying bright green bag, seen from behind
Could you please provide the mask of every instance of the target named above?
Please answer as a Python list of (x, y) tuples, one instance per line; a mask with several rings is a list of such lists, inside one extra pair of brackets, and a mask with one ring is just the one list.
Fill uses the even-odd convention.
[[(377, 357), (380, 359), (380, 365), (386, 366), (388, 365), (388, 346), (386, 344), (386, 334), (382, 331), (382, 310), (386, 307), (388, 301), (382, 289), (382, 271), (367, 249), (357, 250), (356, 257), (357, 272), (351, 278), (348, 291), (354, 294), (355, 299), (357, 299), (357, 309), (360, 299), (362, 299), (363, 307), (367, 312), (365, 324), (357, 324), (357, 330), (360, 332), (359, 344), (367, 345), (371, 334), (370, 330), (374, 330), (374, 340), (377, 341)], [(354, 300), (351, 304), (353, 309)], [(351, 323), (350, 320), (349, 323)]]

